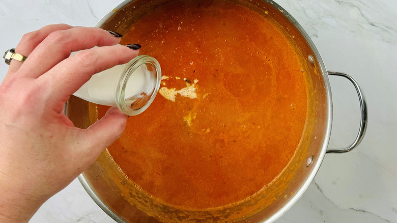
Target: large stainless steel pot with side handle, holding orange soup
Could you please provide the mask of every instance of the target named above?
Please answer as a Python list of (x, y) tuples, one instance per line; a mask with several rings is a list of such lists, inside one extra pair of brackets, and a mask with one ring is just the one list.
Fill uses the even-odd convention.
[[(169, 0), (168, 0), (169, 1)], [(187, 0), (191, 1), (191, 0)], [(362, 89), (349, 75), (327, 72), (315, 45), (298, 22), (271, 0), (230, 0), (246, 6), (272, 19), (294, 37), (301, 55), (307, 58), (309, 83), (309, 117), (303, 141), (286, 170), (263, 193), (249, 202), (231, 208), (189, 211), (168, 207), (150, 198), (129, 182), (107, 151), (79, 176), (83, 187), (92, 199), (118, 222), (180, 222), (180, 221), (232, 221), (272, 222), (285, 213), (302, 196), (313, 181), (326, 153), (351, 151), (361, 142), (365, 133), (367, 113)], [(105, 30), (125, 33), (130, 24), (167, 0), (125, 1), (107, 14), (96, 25)], [(332, 99), (328, 75), (349, 79), (357, 90), (361, 105), (361, 124), (355, 141), (343, 149), (329, 149), (332, 125)], [(75, 126), (87, 128), (96, 121), (95, 104), (71, 97), (66, 113)]]

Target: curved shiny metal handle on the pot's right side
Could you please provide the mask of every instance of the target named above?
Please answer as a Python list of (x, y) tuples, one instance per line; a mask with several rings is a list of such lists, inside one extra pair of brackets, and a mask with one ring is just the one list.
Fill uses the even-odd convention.
[(339, 72), (332, 72), (328, 71), (328, 75), (336, 75), (336, 76), (343, 76), (349, 79), (354, 87), (356, 88), (356, 91), (358, 93), (358, 99), (360, 100), (360, 107), (361, 107), (361, 120), (360, 120), (360, 128), (358, 130), (358, 135), (356, 137), (356, 140), (348, 147), (343, 148), (343, 149), (327, 149), (327, 153), (345, 153), (353, 150), (358, 146), (358, 144), (361, 143), (362, 138), (364, 137), (365, 131), (366, 131), (366, 124), (367, 124), (367, 109), (366, 109), (366, 99), (364, 92), (362, 91), (362, 88), (360, 85), (357, 83), (353, 77), (345, 74), (345, 73), (339, 73)]

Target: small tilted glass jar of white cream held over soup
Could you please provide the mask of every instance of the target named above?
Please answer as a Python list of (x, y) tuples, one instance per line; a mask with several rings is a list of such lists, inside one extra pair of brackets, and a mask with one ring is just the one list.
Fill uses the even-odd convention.
[(160, 88), (161, 68), (148, 55), (139, 55), (129, 63), (94, 74), (73, 95), (136, 116), (153, 102)]

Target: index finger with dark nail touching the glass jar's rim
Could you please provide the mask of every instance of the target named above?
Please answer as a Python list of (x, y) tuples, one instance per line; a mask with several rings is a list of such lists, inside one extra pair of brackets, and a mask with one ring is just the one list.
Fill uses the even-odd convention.
[(76, 92), (93, 74), (116, 65), (125, 64), (137, 56), (139, 50), (123, 45), (96, 47), (83, 50), (54, 66), (37, 78), (43, 93), (47, 94), (48, 105), (62, 110), (69, 96)]

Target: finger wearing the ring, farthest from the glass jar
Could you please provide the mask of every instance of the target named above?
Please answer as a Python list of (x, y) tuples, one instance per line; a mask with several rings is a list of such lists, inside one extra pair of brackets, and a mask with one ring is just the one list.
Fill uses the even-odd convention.
[[(15, 47), (15, 52), (29, 57), (32, 51), (39, 45), (50, 33), (57, 30), (68, 30), (73, 26), (67, 24), (54, 24), (42, 27), (40, 30), (36, 30), (27, 33), (22, 36), (18, 45)], [(22, 62), (17, 60), (11, 60), (9, 71), (14, 72), (19, 69)]]

